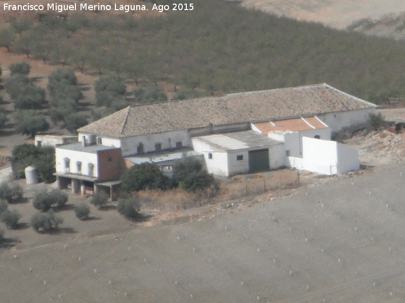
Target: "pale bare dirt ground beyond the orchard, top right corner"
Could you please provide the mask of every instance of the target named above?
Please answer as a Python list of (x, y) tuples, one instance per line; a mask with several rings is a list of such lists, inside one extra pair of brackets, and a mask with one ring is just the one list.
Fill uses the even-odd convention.
[(242, 0), (242, 5), (336, 28), (346, 28), (361, 18), (376, 19), (405, 11), (401, 0)]

